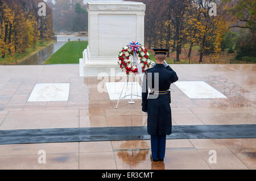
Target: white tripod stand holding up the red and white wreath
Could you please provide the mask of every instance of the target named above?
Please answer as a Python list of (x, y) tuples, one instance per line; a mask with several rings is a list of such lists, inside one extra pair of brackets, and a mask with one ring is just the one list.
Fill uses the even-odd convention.
[[(133, 59), (131, 61), (132, 66), (136, 65), (135, 61), (137, 61), (137, 57), (135, 57), (135, 55), (134, 55)], [(126, 77), (126, 82), (123, 83), (123, 88), (122, 88), (121, 94), (119, 95), (119, 98), (118, 98), (118, 101), (117, 101), (117, 105), (115, 106), (115, 109), (117, 109), (119, 101), (122, 100), (122, 99), (125, 99), (128, 96), (130, 96), (130, 101), (128, 102), (129, 104), (134, 104), (133, 96), (142, 97), (141, 95), (138, 95), (138, 84), (137, 83), (136, 83), (137, 95), (133, 94), (133, 83), (134, 83), (134, 78), (136, 78), (136, 77), (135, 77), (134, 74), (130, 77), (131, 77), (131, 94), (126, 95), (127, 87), (129, 85), (129, 74), (128, 74), (127, 77)], [(135, 81), (135, 82), (137, 82), (137, 81)], [(125, 85), (126, 85), (126, 89), (125, 89)], [(125, 96), (122, 97), (123, 89), (125, 89)]]

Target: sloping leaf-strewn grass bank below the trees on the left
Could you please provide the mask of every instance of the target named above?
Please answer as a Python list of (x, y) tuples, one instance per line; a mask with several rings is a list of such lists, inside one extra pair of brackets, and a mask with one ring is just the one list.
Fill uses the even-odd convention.
[(0, 57), (0, 65), (15, 65), (16, 59), (17, 64), (19, 62), (22, 62), (23, 60), (26, 60), (28, 57), (32, 56), (35, 53), (38, 53), (40, 50), (46, 48), (47, 46), (55, 43), (55, 40), (49, 40), (49, 41), (39, 41), (36, 43), (36, 48), (28, 48), (26, 52), (24, 53), (16, 53), (14, 58), (10, 59), (7, 55), (6, 58)]

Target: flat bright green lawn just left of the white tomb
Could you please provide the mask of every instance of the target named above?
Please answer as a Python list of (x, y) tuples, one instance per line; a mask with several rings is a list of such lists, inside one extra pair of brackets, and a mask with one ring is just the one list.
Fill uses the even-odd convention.
[(68, 41), (55, 52), (44, 64), (79, 64), (82, 51), (86, 49), (88, 41)]

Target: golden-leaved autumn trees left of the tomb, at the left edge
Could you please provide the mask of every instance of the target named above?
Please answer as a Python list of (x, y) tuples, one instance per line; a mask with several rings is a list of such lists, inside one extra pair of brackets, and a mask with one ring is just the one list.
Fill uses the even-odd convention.
[(49, 40), (52, 32), (52, 12), (46, 6), (46, 16), (39, 16), (40, 0), (0, 1), (0, 53), (8, 55), (35, 48), (39, 39)]

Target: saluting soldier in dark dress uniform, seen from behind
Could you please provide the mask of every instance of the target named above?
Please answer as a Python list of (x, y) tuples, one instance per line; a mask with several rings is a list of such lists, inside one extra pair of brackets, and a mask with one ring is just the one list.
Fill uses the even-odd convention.
[(166, 152), (166, 135), (172, 133), (170, 85), (176, 82), (178, 77), (165, 61), (168, 49), (153, 50), (156, 64), (144, 74), (142, 111), (148, 114), (147, 132), (151, 136), (151, 159), (163, 161)]

